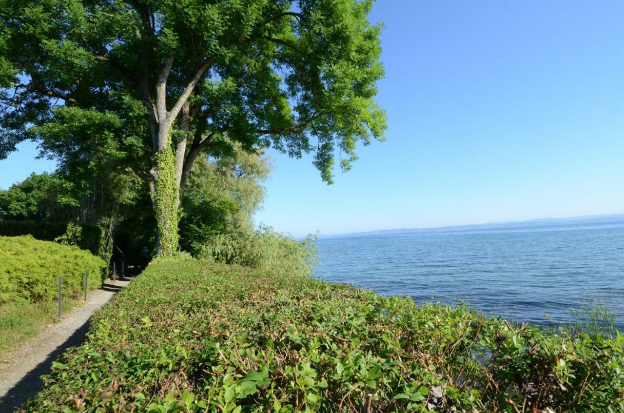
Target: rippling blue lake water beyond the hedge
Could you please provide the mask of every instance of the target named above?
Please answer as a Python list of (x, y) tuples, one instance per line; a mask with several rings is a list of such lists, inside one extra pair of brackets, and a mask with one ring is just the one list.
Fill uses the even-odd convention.
[(598, 301), (624, 331), (624, 220), (435, 230), (317, 241), (314, 276), (416, 302), (466, 301), (486, 314), (548, 324)]

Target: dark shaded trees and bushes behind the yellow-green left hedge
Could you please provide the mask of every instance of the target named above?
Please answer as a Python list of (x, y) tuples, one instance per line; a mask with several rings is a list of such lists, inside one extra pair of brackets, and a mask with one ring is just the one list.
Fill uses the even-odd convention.
[[(76, 245), (109, 261), (121, 214), (147, 211), (152, 215), (151, 205), (139, 195), (144, 192), (142, 183), (119, 170), (99, 177), (90, 173), (88, 182), (71, 178), (66, 170), (33, 173), (0, 191), (0, 235), (32, 235), (38, 240)], [(139, 235), (145, 232), (137, 226), (129, 230)]]

